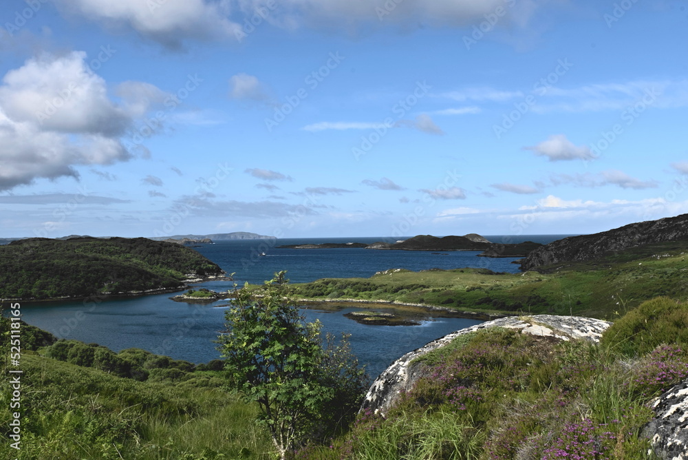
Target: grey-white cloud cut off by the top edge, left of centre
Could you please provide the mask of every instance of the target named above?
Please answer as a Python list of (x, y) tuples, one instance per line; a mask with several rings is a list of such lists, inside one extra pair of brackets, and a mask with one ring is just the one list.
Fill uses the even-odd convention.
[(105, 28), (131, 29), (170, 49), (187, 40), (240, 39), (228, 1), (55, 0), (61, 11), (83, 16)]

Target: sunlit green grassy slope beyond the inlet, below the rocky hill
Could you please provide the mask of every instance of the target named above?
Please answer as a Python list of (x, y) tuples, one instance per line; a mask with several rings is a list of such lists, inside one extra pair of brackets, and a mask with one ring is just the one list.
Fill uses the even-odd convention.
[(314, 300), (396, 300), (459, 311), (614, 317), (658, 295), (685, 300), (687, 253), (687, 242), (669, 242), (609, 254), (601, 260), (544, 267), (541, 273), (387, 271), (367, 279), (294, 284), (294, 293)]

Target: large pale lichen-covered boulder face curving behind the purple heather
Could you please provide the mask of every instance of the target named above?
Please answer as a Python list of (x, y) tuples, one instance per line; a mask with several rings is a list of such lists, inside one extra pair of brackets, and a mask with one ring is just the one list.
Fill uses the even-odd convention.
[(397, 359), (373, 382), (367, 395), (365, 395), (361, 410), (369, 409), (385, 414), (394, 404), (400, 392), (411, 390), (416, 381), (427, 374), (428, 369), (422, 363), (412, 363), (413, 360), (449, 344), (459, 335), (499, 326), (520, 329), (524, 334), (557, 337), (566, 341), (570, 339), (585, 339), (599, 342), (599, 337), (611, 325), (612, 323), (610, 322), (594, 320), (592, 318), (535, 315), (530, 317), (512, 316), (499, 318), (498, 320), (461, 329)]

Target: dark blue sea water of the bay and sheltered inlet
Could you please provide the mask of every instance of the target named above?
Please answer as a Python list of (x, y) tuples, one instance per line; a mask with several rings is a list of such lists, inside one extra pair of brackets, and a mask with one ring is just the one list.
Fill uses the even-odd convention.
[[(499, 242), (499, 237), (486, 237)], [(536, 239), (537, 238), (537, 239)], [(561, 236), (523, 236), (519, 240), (550, 242)], [(413, 271), (440, 268), (480, 267), (493, 271), (516, 273), (514, 259), (479, 258), (478, 252), (448, 252), (436, 255), (425, 251), (374, 251), (370, 249), (277, 249), (281, 244), (320, 242), (374, 242), (381, 238), (325, 238), (322, 240), (278, 240), (272, 246), (260, 240), (218, 242), (196, 249), (208, 259), (235, 272), (239, 284), (259, 283), (272, 273), (288, 270), (292, 282), (309, 282), (319, 278), (369, 277), (376, 271), (404, 268)], [(515, 240), (514, 242), (518, 242)], [(259, 253), (266, 253), (259, 256)], [(232, 282), (207, 282), (204, 287), (227, 290)], [(174, 359), (194, 363), (219, 357), (211, 342), (222, 331), (226, 308), (169, 300), (171, 294), (148, 295), (133, 299), (109, 300), (98, 305), (83, 302), (23, 304), (23, 319), (50, 331), (58, 337), (96, 342), (114, 351), (144, 348)], [(367, 308), (367, 307), (366, 307)], [(368, 309), (368, 308), (367, 308)], [(354, 353), (368, 365), (372, 376), (378, 375), (394, 359), (433, 339), (460, 328), (478, 324), (462, 318), (431, 318), (420, 326), (370, 326), (343, 317), (355, 309), (336, 312), (304, 309), (308, 321), (323, 322), (325, 332), (348, 332)]]

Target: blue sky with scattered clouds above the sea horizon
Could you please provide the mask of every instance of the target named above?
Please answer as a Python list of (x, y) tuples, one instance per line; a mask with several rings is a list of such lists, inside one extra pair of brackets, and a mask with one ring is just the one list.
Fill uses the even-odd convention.
[(685, 0), (8, 0), (0, 237), (688, 212)]

